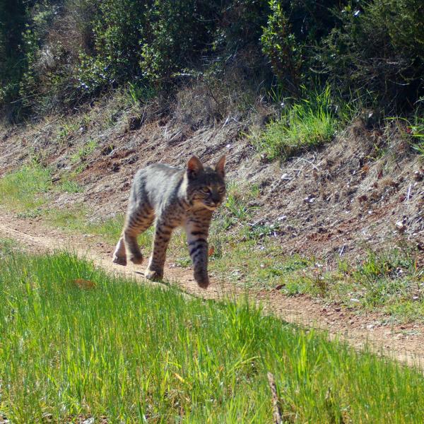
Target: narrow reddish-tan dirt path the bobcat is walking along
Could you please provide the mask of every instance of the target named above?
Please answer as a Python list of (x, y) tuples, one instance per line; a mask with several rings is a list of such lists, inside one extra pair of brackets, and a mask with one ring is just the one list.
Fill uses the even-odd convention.
[[(68, 249), (93, 260), (107, 271), (136, 278), (140, 283), (151, 283), (143, 278), (144, 264), (126, 267), (112, 264), (113, 247), (96, 237), (65, 234), (47, 228), (38, 220), (16, 218), (0, 209), (1, 237), (20, 242), (30, 252)], [(202, 298), (219, 300), (245, 295), (235, 286), (216, 280), (212, 280), (207, 290), (202, 290), (194, 282), (191, 270), (178, 268), (172, 262), (167, 262), (165, 278), (184, 292)], [(424, 367), (423, 324), (388, 324), (387, 317), (379, 314), (358, 315), (306, 295), (286, 296), (277, 290), (249, 292), (249, 297), (261, 302), (264, 312), (276, 314), (287, 322), (324, 329), (331, 338), (343, 338), (354, 348), (363, 348), (367, 344), (377, 353)]]

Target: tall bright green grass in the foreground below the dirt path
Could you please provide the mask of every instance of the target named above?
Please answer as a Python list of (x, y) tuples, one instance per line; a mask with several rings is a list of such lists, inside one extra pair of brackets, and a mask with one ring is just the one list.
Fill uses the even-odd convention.
[(418, 423), (424, 377), (247, 302), (187, 299), (73, 254), (1, 243), (0, 415), (11, 423)]

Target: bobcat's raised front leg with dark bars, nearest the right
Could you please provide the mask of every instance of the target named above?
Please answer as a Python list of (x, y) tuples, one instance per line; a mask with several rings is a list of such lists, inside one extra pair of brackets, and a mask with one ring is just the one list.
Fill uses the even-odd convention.
[(209, 285), (208, 223), (209, 221), (207, 219), (189, 220), (185, 225), (189, 254), (194, 267), (194, 279), (201, 288), (207, 288)]

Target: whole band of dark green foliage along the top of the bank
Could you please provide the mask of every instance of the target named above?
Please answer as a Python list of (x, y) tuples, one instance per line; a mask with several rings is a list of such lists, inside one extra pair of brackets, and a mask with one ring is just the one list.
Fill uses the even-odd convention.
[(41, 115), (129, 82), (169, 93), (195, 76), (211, 90), (218, 81), (282, 98), (329, 82), (390, 112), (412, 108), (423, 96), (423, 9), (421, 0), (0, 0), (0, 107)]

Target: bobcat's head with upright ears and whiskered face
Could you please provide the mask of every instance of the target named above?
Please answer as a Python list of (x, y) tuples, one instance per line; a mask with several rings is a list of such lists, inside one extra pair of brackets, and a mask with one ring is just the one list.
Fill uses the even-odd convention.
[(204, 167), (201, 161), (192, 156), (187, 162), (187, 200), (195, 207), (215, 211), (225, 196), (225, 156), (218, 160), (214, 168)]

